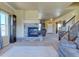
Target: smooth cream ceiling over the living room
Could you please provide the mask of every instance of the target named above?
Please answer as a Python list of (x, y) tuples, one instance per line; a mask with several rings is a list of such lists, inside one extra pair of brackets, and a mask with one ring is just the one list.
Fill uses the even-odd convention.
[(72, 9), (66, 9), (72, 2), (7, 2), (17, 10), (37, 10), (42, 18), (57, 18)]

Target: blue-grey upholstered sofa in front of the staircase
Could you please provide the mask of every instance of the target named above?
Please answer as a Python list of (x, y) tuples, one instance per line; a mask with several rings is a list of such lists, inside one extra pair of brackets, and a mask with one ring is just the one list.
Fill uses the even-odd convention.
[(79, 57), (79, 38), (75, 43), (69, 42), (67, 38), (63, 38), (59, 42), (58, 53), (60, 57)]

